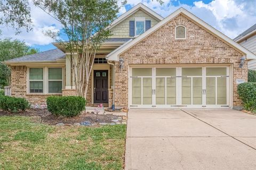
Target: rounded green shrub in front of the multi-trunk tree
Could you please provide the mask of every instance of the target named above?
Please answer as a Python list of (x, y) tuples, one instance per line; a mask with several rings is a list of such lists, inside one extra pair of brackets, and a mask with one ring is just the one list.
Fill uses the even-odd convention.
[(50, 96), (46, 103), (52, 114), (71, 117), (85, 110), (86, 101), (80, 96)]

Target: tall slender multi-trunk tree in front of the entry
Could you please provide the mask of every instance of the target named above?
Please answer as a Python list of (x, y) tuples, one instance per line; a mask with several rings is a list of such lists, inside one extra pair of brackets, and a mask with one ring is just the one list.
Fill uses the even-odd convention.
[[(62, 44), (70, 52), (76, 94), (86, 98), (95, 54), (111, 35), (108, 27), (117, 18), (118, 0), (35, 0), (34, 3), (63, 25), (68, 42)], [(125, 3), (123, 0), (122, 4)], [(55, 39), (60, 36), (51, 31), (46, 34)]]

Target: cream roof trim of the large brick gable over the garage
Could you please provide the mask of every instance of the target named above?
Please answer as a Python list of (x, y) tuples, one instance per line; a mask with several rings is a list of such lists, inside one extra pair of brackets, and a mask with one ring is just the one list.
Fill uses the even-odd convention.
[(220, 31), (214, 29), (209, 24), (207, 24), (204, 21), (202, 21), (201, 19), (197, 18), (195, 15), (191, 14), (184, 8), (179, 8), (177, 11), (175, 11), (172, 14), (170, 14), (169, 16), (167, 16), (164, 20), (157, 23), (154, 27), (152, 27), (151, 29), (149, 29), (148, 31), (146, 31), (145, 33), (140, 35), (139, 37), (137, 37), (133, 40), (127, 41), (127, 43), (123, 44), (122, 46), (120, 46), (119, 48), (117, 48), (116, 50), (114, 50), (113, 52), (108, 54), (106, 56), (106, 58), (110, 61), (118, 61), (119, 55), (121, 55), (127, 49), (130, 49), (132, 46), (134, 46), (135, 44), (139, 43), (141, 40), (143, 40), (146, 37), (148, 37), (149, 35), (151, 35), (151, 33), (155, 32), (156, 30), (161, 28), (164, 24), (171, 21), (172, 19), (177, 17), (179, 14), (182, 14), (183, 16), (185, 16), (186, 18), (188, 18), (195, 24), (199, 25), (201, 28), (203, 28), (207, 32), (211, 33), (213, 36), (217, 37), (218, 39), (222, 40), (224, 43), (228, 44), (229, 46), (231, 46), (231, 47), (235, 48), (236, 50), (238, 50), (239, 52), (243, 53), (247, 57), (247, 59), (255, 59), (256, 56), (252, 52), (250, 52), (246, 48), (242, 47), (241, 45), (237, 44), (234, 40), (230, 39), (229, 37), (223, 35)]

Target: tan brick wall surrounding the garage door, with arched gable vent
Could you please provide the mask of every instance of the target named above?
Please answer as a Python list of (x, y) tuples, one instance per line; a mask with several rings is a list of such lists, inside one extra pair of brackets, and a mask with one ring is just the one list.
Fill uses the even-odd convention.
[[(187, 39), (175, 40), (174, 28), (184, 25)], [(239, 68), (242, 53), (230, 47), (183, 15), (178, 15), (151, 33), (120, 57), (124, 67), (115, 64), (115, 105), (128, 106), (128, 73), (130, 64), (232, 64), (233, 106), (241, 105), (237, 95), (236, 79), (247, 81), (247, 61)]]

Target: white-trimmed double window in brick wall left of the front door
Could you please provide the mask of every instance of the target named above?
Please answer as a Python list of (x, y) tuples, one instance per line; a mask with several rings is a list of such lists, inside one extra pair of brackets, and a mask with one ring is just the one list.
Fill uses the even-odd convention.
[(63, 87), (62, 67), (29, 68), (30, 94), (60, 94)]

